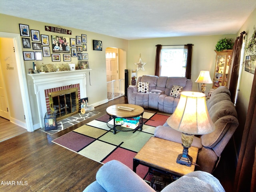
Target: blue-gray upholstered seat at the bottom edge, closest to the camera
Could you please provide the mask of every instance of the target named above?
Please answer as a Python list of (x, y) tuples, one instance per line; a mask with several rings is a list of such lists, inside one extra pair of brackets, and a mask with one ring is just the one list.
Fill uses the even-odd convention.
[[(207, 172), (186, 174), (166, 186), (162, 192), (225, 192), (219, 180)], [(96, 174), (96, 181), (84, 192), (155, 192), (142, 178), (117, 160), (104, 164)]]

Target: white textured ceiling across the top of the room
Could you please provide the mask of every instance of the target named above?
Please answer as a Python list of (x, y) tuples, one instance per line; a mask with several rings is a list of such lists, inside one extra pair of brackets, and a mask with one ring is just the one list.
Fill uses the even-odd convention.
[(2, 14), (127, 40), (236, 34), (255, 8), (256, 0), (0, 0)]

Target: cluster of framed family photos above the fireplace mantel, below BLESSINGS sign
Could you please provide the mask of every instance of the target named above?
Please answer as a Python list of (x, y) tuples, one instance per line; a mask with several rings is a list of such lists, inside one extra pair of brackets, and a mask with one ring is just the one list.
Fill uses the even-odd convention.
[[(69, 62), (72, 57), (88, 60), (88, 53), (85, 53), (87, 51), (86, 34), (72, 38), (68, 34), (40, 34), (39, 30), (30, 29), (26, 24), (19, 24), (19, 28), (24, 60), (43, 60), (44, 57), (52, 57), (52, 62)], [(86, 65), (80, 64), (80, 66), (88, 68), (88, 61)]]

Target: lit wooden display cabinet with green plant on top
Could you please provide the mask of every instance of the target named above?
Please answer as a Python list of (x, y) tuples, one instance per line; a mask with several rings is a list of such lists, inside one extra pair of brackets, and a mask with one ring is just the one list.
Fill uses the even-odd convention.
[(212, 88), (218, 88), (220, 86), (228, 87), (228, 79), (230, 76), (229, 67), (232, 59), (232, 50), (223, 50), (215, 52), (216, 62)]

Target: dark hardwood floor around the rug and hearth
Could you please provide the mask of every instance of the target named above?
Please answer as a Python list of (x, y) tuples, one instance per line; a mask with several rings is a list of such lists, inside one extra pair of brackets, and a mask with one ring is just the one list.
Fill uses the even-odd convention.
[[(102, 164), (58, 146), (51, 141), (106, 113), (113, 104), (127, 103), (121, 97), (95, 108), (100, 114), (54, 135), (40, 130), (0, 142), (0, 192), (80, 192), (95, 180)], [(225, 150), (214, 171), (226, 192), (232, 191), (235, 168)], [(117, 181), (118, 182), (118, 181)]]

